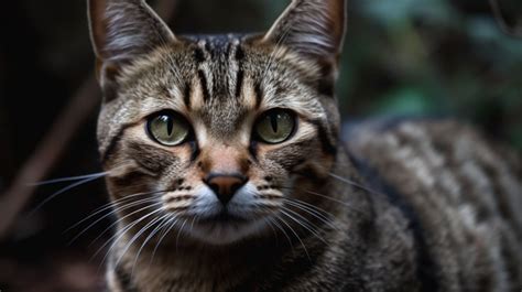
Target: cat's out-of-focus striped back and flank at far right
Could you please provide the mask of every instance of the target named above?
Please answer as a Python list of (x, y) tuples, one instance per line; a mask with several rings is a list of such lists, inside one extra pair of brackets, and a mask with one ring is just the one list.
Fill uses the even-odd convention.
[(522, 288), (516, 153), (453, 120), (366, 122), (346, 132), (367, 183), (412, 221), (418, 264), (439, 291)]

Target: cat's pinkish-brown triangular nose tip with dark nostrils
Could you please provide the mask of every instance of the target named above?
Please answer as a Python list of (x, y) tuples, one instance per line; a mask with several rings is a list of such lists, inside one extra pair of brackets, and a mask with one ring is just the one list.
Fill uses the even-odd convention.
[(227, 205), (247, 181), (248, 179), (241, 174), (209, 174), (205, 179), (205, 183), (214, 191), (222, 205)]

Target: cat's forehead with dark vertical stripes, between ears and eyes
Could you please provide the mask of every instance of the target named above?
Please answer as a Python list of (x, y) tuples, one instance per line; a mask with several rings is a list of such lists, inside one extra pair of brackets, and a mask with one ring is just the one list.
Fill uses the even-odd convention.
[(134, 104), (128, 108), (140, 108), (142, 115), (135, 116), (170, 108), (227, 134), (252, 110), (320, 108), (307, 85), (314, 64), (292, 57), (284, 47), (231, 34), (181, 40), (124, 71), (122, 96)]

